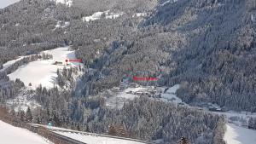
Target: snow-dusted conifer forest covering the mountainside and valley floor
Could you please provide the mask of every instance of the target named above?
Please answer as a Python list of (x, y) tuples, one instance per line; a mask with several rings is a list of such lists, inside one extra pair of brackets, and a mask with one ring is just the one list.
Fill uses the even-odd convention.
[[(83, 21), (107, 10), (124, 14)], [(65, 22), (70, 25), (56, 26)], [(191, 143), (220, 144), (221, 116), (146, 98), (109, 110), (101, 92), (118, 86), (128, 73), (158, 77), (160, 86), (181, 84), (177, 95), (191, 105), (211, 102), (255, 112), (255, 28), (253, 0), (74, 0), (72, 7), (21, 0), (0, 9), (0, 67), (19, 55), (73, 45), (85, 66), (83, 77), (74, 82), (77, 70), (65, 70), (58, 72), (59, 84), (75, 88), (36, 89), (33, 97), (42, 107), (30, 121), (112, 135), (120, 135), (116, 129), (121, 127), (125, 135), (120, 136), (166, 143), (185, 136)], [(3, 82), (1, 101), (24, 88), (19, 80)], [(15, 115), (26, 120), (23, 114)], [(250, 124), (254, 129), (253, 119)]]

